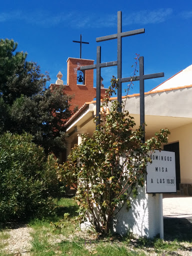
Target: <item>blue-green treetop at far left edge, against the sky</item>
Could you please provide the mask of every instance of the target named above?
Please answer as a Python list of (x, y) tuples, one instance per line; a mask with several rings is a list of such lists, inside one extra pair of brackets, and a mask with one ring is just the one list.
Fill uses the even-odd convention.
[(26, 61), (27, 53), (15, 52), (17, 43), (0, 39), (0, 93), (5, 103), (21, 96), (31, 96), (43, 89), (47, 74), (40, 73), (35, 62)]

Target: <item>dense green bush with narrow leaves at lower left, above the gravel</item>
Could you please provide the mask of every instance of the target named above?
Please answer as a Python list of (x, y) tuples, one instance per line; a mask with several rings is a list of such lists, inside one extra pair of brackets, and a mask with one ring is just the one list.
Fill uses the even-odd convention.
[(32, 136), (0, 135), (0, 222), (51, 213), (59, 192), (57, 162)]

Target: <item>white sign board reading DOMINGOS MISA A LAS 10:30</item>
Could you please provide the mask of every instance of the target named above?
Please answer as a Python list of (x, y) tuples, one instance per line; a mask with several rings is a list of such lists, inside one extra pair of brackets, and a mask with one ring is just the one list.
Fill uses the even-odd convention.
[(155, 150), (146, 166), (146, 192), (176, 192), (175, 152)]

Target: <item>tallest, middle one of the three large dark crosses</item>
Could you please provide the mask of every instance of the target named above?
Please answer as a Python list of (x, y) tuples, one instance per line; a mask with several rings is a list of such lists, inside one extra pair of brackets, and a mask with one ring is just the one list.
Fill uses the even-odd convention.
[[(122, 37), (144, 33), (144, 28), (131, 30), (127, 32), (122, 32), (122, 14), (121, 11), (117, 12), (117, 33), (101, 36), (96, 38), (96, 42), (111, 40), (117, 38), (117, 78), (118, 78), (118, 88), (117, 88), (117, 100), (121, 105), (122, 98), (122, 85), (121, 85), (121, 76), (122, 76)], [(121, 109), (118, 109), (119, 111)]]

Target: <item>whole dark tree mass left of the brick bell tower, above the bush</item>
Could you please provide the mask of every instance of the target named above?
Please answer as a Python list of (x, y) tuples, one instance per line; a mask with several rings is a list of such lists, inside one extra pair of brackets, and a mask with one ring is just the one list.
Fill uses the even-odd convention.
[(65, 148), (64, 123), (72, 113), (71, 96), (63, 94), (63, 87), (46, 89), (48, 74), (16, 48), (12, 39), (0, 39), (0, 133), (29, 132), (46, 155), (57, 154)]

